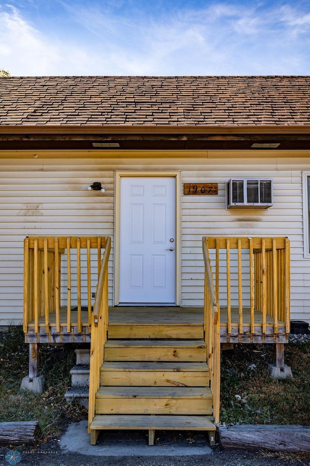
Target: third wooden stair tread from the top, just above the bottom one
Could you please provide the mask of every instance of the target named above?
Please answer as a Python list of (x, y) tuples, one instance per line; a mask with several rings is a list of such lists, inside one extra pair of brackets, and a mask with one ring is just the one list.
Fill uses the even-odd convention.
[(170, 398), (170, 399), (210, 399), (210, 389), (207, 387), (100, 387), (96, 399), (100, 398)]

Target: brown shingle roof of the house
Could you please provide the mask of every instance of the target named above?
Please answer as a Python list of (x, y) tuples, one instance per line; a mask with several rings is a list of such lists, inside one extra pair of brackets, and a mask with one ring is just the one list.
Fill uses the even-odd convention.
[(310, 76), (0, 78), (0, 125), (310, 125)]

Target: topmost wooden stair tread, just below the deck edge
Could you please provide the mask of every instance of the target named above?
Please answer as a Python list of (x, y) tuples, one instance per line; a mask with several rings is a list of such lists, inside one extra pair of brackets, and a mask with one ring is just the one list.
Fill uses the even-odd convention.
[(204, 340), (107, 340), (105, 348), (205, 348)]

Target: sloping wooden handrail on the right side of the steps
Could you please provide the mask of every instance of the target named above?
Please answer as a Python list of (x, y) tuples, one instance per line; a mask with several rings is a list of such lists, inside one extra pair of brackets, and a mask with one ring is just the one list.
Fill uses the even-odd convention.
[(210, 389), (213, 396), (213, 417), (219, 422), (220, 395), (220, 321), (219, 304), (213, 283), (209, 250), (206, 238), (202, 238), (204, 260), (204, 333), (207, 349), (207, 363), (210, 374)]

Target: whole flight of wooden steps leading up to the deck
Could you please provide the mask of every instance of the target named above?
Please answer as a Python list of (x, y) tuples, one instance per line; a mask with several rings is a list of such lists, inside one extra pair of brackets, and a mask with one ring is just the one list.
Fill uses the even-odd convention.
[(92, 445), (106, 429), (146, 429), (149, 445), (154, 444), (155, 430), (205, 430), (214, 444), (203, 326), (192, 326), (195, 332), (186, 332), (183, 325), (168, 331), (166, 324), (151, 327), (109, 327), (113, 338), (105, 344), (90, 426)]

